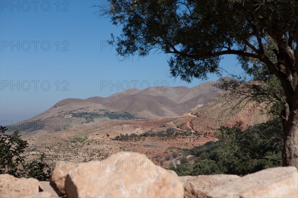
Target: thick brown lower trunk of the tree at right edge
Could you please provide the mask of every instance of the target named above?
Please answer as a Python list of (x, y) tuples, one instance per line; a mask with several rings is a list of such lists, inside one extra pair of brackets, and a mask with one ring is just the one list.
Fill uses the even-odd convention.
[[(296, 91), (297, 92), (297, 91)], [(295, 97), (294, 97), (295, 98)], [(294, 101), (294, 107), (285, 105), (282, 113), (284, 147), (283, 166), (295, 166), (298, 168), (298, 101)]]

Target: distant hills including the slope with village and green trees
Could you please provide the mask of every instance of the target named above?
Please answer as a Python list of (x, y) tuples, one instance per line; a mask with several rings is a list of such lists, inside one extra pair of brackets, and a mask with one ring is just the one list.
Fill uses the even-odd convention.
[(177, 117), (223, 93), (216, 86), (218, 83), (220, 80), (208, 81), (193, 88), (162, 86), (129, 89), (106, 98), (68, 98), (9, 129), (19, 130), (22, 134), (58, 132), (109, 120)]

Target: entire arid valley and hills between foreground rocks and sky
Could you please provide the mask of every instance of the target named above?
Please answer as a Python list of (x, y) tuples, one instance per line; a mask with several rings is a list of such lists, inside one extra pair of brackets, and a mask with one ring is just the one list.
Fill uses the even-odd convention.
[[(206, 88), (206, 84), (212, 86)], [(41, 153), (53, 164), (57, 160), (101, 160), (119, 151), (134, 151), (167, 167), (187, 149), (216, 141), (214, 132), (221, 126), (241, 123), (246, 129), (268, 120), (262, 104), (247, 102), (231, 108), (240, 99), (214, 86), (215, 82), (207, 82), (191, 89), (168, 87), (169, 92), (162, 93), (150, 88), (107, 98), (65, 99), (10, 126), (10, 131), (18, 128), (28, 141), (28, 161)]]

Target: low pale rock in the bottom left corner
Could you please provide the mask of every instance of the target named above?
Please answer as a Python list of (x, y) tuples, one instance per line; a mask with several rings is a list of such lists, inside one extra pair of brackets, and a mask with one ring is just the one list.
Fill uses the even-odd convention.
[(36, 179), (0, 175), (0, 198), (22, 198), (38, 193), (39, 189), (40, 184)]

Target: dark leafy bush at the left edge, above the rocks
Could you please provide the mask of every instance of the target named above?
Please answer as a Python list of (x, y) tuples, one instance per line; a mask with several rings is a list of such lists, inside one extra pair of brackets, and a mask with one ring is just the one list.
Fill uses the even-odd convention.
[(0, 126), (0, 174), (49, 181), (50, 166), (45, 163), (45, 154), (42, 153), (39, 161), (25, 163), (22, 154), (28, 147), (28, 142), (20, 138), (18, 131), (7, 134), (6, 130)]

